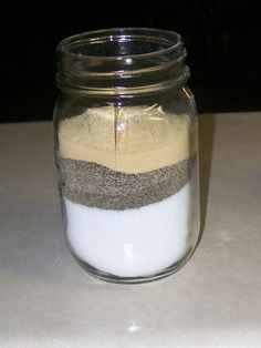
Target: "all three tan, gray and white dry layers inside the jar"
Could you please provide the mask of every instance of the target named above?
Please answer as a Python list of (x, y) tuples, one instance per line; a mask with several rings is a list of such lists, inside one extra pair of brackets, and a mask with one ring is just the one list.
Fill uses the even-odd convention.
[(157, 105), (93, 108), (61, 121), (67, 238), (83, 262), (137, 277), (186, 253), (190, 129), (188, 115)]

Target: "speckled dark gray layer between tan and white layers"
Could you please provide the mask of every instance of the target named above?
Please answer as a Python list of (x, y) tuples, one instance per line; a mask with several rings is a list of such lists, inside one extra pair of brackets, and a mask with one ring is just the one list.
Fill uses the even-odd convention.
[(58, 158), (62, 194), (103, 209), (137, 208), (177, 193), (190, 176), (190, 161), (142, 174), (126, 174), (101, 164)]

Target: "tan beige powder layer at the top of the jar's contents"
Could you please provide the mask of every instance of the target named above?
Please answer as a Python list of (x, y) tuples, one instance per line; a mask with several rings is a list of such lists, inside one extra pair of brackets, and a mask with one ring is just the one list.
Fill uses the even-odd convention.
[(190, 156), (190, 120), (160, 108), (94, 108), (61, 121), (59, 156), (144, 173)]

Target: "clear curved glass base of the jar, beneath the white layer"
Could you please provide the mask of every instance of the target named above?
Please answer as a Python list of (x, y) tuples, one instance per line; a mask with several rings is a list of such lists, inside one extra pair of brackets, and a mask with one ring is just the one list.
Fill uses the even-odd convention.
[[(73, 253), (72, 253), (73, 254)], [(147, 276), (137, 276), (137, 277), (118, 277), (109, 273), (105, 273), (102, 270), (98, 270), (97, 268), (86, 264), (85, 262), (77, 258), (74, 254), (74, 258), (76, 262), (81, 265), (81, 267), (92, 277), (103, 280), (106, 283), (114, 283), (114, 284), (143, 284), (143, 283), (150, 283), (156, 282), (163, 278), (166, 278), (170, 276), (171, 274), (178, 272), (180, 268), (184, 267), (184, 265), (190, 259), (190, 257), (194, 254), (194, 248), (189, 248), (189, 250), (185, 254), (185, 256), (173, 264), (171, 266), (163, 269), (161, 272), (147, 275)]]

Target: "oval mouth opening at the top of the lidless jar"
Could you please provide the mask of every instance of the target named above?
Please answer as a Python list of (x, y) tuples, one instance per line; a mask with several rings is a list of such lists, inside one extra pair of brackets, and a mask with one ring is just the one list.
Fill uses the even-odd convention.
[[(146, 44), (145, 44), (146, 43)], [(177, 32), (152, 28), (88, 31), (62, 40), (58, 52), (87, 60), (139, 60), (165, 55), (182, 45)]]

